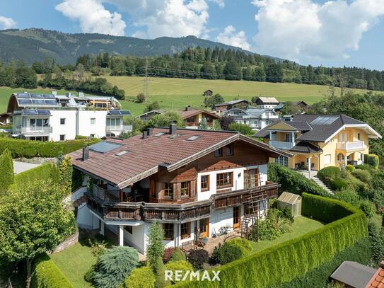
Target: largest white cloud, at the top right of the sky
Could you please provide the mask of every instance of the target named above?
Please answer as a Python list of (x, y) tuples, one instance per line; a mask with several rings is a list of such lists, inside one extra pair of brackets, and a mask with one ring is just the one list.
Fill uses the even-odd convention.
[(359, 50), (363, 33), (384, 15), (384, 0), (253, 0), (258, 52), (289, 59), (337, 59)]

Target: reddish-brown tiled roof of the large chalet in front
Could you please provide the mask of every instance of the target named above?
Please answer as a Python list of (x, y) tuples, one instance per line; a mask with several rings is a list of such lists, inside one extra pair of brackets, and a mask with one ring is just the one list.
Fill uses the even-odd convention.
[[(250, 142), (250, 144), (272, 154), (290, 156), (284, 151), (274, 149), (261, 142), (255, 142), (253, 139), (244, 137), (237, 132), (177, 129), (176, 134), (181, 134), (181, 136), (172, 139), (168, 133), (169, 129), (154, 128), (152, 135), (160, 132), (165, 134), (159, 137), (149, 136), (146, 139), (143, 139), (141, 135), (124, 140), (107, 139), (107, 142), (121, 144), (122, 146), (103, 154), (90, 150), (89, 158), (86, 161), (82, 161), (82, 150), (75, 151), (69, 156), (72, 157), (72, 162), (76, 168), (107, 180), (120, 188), (156, 173), (158, 166), (165, 166), (168, 171), (172, 171), (178, 166), (185, 165), (185, 163), (194, 161), (221, 146), (239, 139)], [(199, 136), (199, 138), (188, 141), (187, 139), (192, 136)], [(116, 156), (122, 151), (128, 152)]]

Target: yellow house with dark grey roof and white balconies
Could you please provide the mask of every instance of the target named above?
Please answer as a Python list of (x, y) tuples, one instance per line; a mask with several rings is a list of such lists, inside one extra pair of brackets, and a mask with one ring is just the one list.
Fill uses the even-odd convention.
[(320, 170), (327, 166), (363, 163), (368, 139), (378, 134), (368, 124), (346, 115), (296, 114), (272, 123), (255, 134), (264, 142), (293, 154), (276, 161), (289, 168)]

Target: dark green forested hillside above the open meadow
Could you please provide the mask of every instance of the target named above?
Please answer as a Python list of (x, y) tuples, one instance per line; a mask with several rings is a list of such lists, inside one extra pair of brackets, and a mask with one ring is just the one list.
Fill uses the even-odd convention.
[(106, 72), (111, 76), (143, 76), (147, 71), (149, 76), (293, 82), (384, 91), (383, 71), (303, 66), (288, 60), (276, 61), (259, 54), (219, 47), (187, 48), (173, 56), (148, 58), (85, 54), (78, 57), (76, 64), (82, 64), (94, 75)]

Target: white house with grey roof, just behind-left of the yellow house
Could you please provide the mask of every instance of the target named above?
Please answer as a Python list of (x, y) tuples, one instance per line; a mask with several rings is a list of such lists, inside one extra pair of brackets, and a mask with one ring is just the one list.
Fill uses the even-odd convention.
[(279, 115), (277, 115), (272, 109), (240, 109), (233, 108), (231, 110), (226, 111), (224, 116), (231, 117), (233, 121), (238, 123), (243, 123), (252, 127), (252, 129), (263, 129), (267, 125), (279, 119)]

